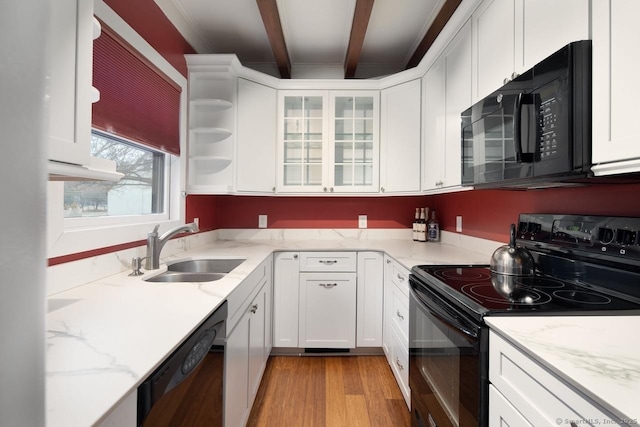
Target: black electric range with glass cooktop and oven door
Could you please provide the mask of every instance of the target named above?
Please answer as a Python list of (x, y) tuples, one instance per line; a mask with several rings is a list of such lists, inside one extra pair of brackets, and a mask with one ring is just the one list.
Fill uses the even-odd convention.
[(508, 296), (488, 264), (411, 270), (412, 425), (488, 425), (485, 316), (640, 315), (640, 218), (521, 214), (516, 244), (536, 269)]

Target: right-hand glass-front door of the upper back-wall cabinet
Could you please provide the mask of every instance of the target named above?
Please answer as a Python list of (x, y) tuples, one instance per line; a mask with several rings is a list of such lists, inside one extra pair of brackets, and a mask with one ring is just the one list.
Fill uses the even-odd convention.
[(378, 92), (331, 93), (329, 191), (378, 191)]

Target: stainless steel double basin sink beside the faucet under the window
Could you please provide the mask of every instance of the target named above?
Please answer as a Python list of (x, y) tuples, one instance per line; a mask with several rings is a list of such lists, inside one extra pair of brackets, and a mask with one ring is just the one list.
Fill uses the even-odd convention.
[(220, 280), (245, 259), (189, 259), (167, 264), (167, 271), (147, 282), (213, 282)]

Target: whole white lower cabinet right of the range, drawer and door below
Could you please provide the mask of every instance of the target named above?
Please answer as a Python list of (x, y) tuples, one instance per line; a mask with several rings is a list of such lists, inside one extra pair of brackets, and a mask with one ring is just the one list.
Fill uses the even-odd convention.
[(489, 381), (491, 426), (624, 425), (493, 331)]

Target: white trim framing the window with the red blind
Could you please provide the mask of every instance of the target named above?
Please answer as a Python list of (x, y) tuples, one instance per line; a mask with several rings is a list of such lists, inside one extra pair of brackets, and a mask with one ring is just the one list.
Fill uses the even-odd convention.
[[(108, 246), (125, 244), (147, 238), (155, 224), (160, 224), (160, 232), (184, 224), (186, 189), (186, 129), (187, 129), (187, 79), (180, 74), (160, 53), (118, 16), (102, 0), (95, 0), (95, 15), (107, 26), (144, 55), (160, 71), (181, 87), (180, 95), (180, 152), (182, 156), (169, 156), (170, 174), (166, 185), (170, 192), (168, 217), (149, 216), (142, 222), (130, 221), (112, 224), (117, 219), (108, 219), (102, 225), (86, 227), (65, 227), (63, 218), (64, 184), (49, 182), (47, 188), (47, 257), (59, 257)], [(177, 174), (177, 176), (175, 176)]]

